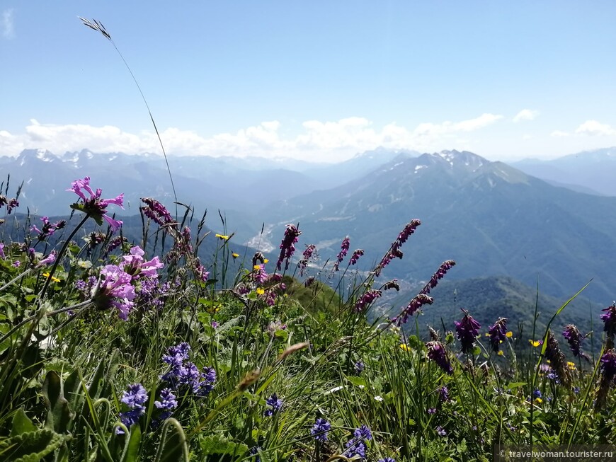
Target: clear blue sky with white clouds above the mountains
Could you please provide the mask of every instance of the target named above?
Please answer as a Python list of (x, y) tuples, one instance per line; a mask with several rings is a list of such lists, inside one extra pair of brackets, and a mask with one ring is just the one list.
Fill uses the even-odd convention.
[(615, 21), (611, 0), (2, 0), (0, 156), (161, 154), (122, 57), (169, 155), (616, 146)]

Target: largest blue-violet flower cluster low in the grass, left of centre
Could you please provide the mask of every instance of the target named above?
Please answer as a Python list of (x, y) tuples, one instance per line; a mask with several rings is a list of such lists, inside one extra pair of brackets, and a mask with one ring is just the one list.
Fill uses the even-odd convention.
[(186, 385), (195, 395), (207, 396), (214, 388), (216, 371), (213, 367), (204, 367), (203, 371), (199, 372), (197, 366), (188, 361), (188, 352), (190, 345), (186, 342), (170, 347), (167, 354), (163, 355), (163, 362), (171, 368), (161, 379), (168, 382), (173, 390)]

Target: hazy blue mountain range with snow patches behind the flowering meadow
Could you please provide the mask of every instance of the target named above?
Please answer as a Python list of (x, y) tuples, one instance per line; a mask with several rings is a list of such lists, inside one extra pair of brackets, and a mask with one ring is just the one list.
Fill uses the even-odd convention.
[[(593, 166), (608, 171), (611, 153), (587, 153), (587, 171)], [(561, 165), (576, 168), (587, 154)], [(383, 277), (420, 282), (440, 262), (454, 259), (457, 265), (447, 279), (509, 276), (532, 287), (538, 281), (542, 293), (565, 297), (592, 278), (584, 295), (609, 304), (616, 296), (616, 272), (610, 271), (616, 258), (616, 197), (598, 195), (609, 192), (598, 190), (598, 182), (571, 186), (574, 178), (563, 176), (550, 184), (521, 170), (538, 164), (525, 161), (518, 169), (466, 151), (386, 149), (338, 164), (169, 157), (178, 199), (198, 216), (221, 209), (237, 243), (275, 250), (285, 224), (299, 222), (300, 251), (304, 243), (314, 243), (325, 261), (350, 236), (351, 251), (366, 251), (359, 270), (367, 271), (404, 224), (418, 218), (423, 224), (402, 248), (403, 260), (394, 260)], [(67, 214), (74, 197), (64, 190), (85, 175), (103, 189), (103, 197), (125, 192), (125, 214), (137, 214), (144, 196), (173, 207), (164, 158), (154, 154), (83, 150), (56, 156), (26, 150), (0, 157), (0, 170), (11, 175), (11, 190), (23, 181), (22, 212), (29, 207), (39, 215)], [(579, 192), (591, 186), (594, 195)], [(217, 223), (207, 224), (218, 229)]]

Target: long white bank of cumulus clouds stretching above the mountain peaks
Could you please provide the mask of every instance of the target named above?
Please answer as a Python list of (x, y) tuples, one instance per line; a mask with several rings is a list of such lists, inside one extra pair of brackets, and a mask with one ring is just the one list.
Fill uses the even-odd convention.
[[(235, 133), (220, 133), (211, 137), (190, 130), (168, 128), (161, 139), (169, 154), (208, 156), (263, 156), (311, 158), (316, 161), (340, 161), (357, 152), (375, 149), (416, 149), (438, 151), (467, 144), (470, 132), (487, 127), (502, 115), (482, 114), (460, 122), (422, 123), (414, 128), (395, 122), (375, 127), (364, 117), (347, 117), (338, 121), (307, 120), (300, 132), (281, 137), (278, 120), (261, 122)], [(464, 139), (461, 137), (464, 136)], [(105, 125), (42, 124), (30, 120), (21, 134), (0, 131), (0, 154), (15, 155), (23, 149), (45, 148), (57, 154), (87, 148), (95, 152), (121, 151), (128, 154), (158, 152), (159, 142), (154, 132), (138, 134), (124, 132), (119, 127)]]

